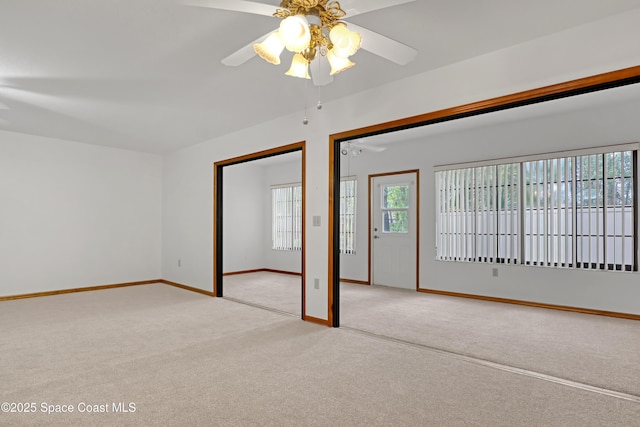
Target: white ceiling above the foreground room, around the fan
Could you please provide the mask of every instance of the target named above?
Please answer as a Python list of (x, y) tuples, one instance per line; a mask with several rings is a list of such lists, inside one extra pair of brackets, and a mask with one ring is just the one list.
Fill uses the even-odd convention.
[[(349, 9), (349, 0), (341, 4)], [(638, 7), (640, 0), (416, 0), (362, 14), (351, 21), (418, 57), (402, 67), (361, 50), (321, 98)], [(278, 24), (179, 0), (4, 0), (0, 130), (164, 153), (300, 111), (305, 81), (284, 76), (286, 60), (220, 63)]]

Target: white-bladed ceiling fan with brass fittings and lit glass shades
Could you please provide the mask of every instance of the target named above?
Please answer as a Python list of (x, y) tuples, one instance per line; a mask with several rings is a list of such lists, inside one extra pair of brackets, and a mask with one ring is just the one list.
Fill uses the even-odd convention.
[(241, 47), (222, 59), (222, 63), (238, 66), (259, 55), (277, 65), (280, 53), (286, 48), (294, 56), (285, 74), (313, 78), (314, 85), (324, 86), (333, 81), (334, 74), (355, 65), (349, 57), (359, 48), (399, 65), (411, 62), (417, 55), (414, 48), (344, 18), (413, 1), (345, 0), (349, 6), (346, 10), (334, 0), (282, 0), (279, 7), (244, 0), (182, 0), (182, 3), (282, 19), (278, 29)]

